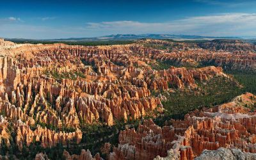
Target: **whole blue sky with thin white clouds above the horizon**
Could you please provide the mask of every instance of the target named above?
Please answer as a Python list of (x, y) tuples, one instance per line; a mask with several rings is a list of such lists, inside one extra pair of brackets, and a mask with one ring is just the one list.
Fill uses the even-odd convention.
[(145, 33), (256, 37), (256, 1), (0, 1), (0, 37), (4, 38)]

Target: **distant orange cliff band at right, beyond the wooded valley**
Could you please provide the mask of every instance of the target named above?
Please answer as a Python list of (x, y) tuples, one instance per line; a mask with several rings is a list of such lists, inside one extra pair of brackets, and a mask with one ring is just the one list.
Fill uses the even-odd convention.
[(212, 51), (207, 49), (188, 49), (154, 54), (159, 61), (169, 61), (173, 65), (200, 67), (214, 65), (227, 70), (255, 70), (255, 51)]

